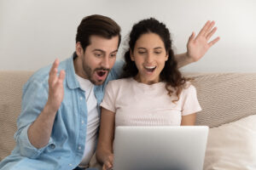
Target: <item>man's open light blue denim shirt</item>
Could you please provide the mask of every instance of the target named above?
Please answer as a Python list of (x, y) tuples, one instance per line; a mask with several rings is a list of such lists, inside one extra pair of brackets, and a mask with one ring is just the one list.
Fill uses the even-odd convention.
[[(116, 61), (106, 82), (95, 86), (98, 109), (108, 81), (119, 77), (123, 62)], [(55, 116), (49, 143), (37, 149), (29, 141), (28, 127), (34, 122), (48, 99), (48, 78), (51, 65), (40, 69), (23, 87), (21, 113), (15, 133), (16, 146), (10, 156), (0, 162), (0, 169), (66, 170), (77, 167), (86, 147), (87, 106), (84, 91), (75, 76), (73, 57), (62, 61), (59, 71), (66, 71), (64, 99)], [(86, 93), (86, 92), (85, 92)], [(83, 121), (83, 122), (82, 122)], [(42, 127), (44, 128), (44, 127)]]

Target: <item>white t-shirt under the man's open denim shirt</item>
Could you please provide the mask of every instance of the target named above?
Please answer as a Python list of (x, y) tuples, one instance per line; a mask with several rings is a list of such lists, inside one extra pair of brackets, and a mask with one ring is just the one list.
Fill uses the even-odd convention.
[[(100, 124), (100, 117), (97, 111), (97, 100), (94, 95), (94, 85), (87, 79), (82, 77), (78, 77), (78, 81), (80, 87), (85, 91), (85, 98), (87, 103), (87, 133), (86, 133), (86, 142), (84, 148), (84, 156), (79, 164), (80, 166), (88, 165), (90, 158), (94, 154), (94, 150), (96, 148), (96, 138), (97, 138), (97, 131)], [(84, 104), (85, 105), (85, 104)], [(85, 122), (85, 120), (84, 120)]]

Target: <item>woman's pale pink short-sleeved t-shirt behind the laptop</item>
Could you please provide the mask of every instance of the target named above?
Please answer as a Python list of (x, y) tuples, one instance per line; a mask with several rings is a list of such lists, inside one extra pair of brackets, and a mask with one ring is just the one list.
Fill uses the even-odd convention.
[(196, 89), (189, 82), (176, 96), (169, 96), (165, 82), (152, 85), (124, 78), (108, 82), (101, 106), (115, 112), (115, 126), (179, 126), (182, 116), (201, 111)]

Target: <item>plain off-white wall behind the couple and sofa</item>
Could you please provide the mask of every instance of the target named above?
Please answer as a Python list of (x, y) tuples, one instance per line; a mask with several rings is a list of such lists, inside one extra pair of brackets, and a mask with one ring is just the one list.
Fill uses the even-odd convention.
[(169, 27), (177, 53), (192, 31), (215, 20), (220, 42), (183, 71), (256, 71), (254, 0), (0, 0), (0, 70), (34, 71), (66, 59), (89, 14), (116, 20), (124, 38), (135, 22), (153, 16)]

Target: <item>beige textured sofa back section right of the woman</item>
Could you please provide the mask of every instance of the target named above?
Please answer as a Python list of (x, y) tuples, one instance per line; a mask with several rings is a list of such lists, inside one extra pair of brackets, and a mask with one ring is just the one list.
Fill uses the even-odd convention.
[(196, 125), (218, 127), (256, 114), (256, 73), (194, 73), (202, 111)]

